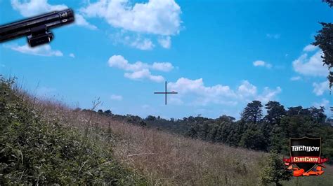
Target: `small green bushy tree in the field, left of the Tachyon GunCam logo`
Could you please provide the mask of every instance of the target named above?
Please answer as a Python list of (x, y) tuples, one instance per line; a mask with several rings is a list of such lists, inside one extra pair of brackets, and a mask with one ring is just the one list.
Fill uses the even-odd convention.
[(292, 174), (286, 170), (285, 165), (282, 162), (282, 157), (274, 151), (270, 152), (268, 164), (260, 173), (260, 183), (262, 185), (268, 185), (270, 183), (281, 185), (280, 181), (289, 180), (291, 177)]

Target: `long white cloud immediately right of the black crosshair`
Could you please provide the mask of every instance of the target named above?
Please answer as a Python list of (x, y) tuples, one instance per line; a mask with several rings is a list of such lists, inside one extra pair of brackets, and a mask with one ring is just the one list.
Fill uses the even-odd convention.
[(192, 101), (195, 105), (206, 106), (208, 103), (236, 106), (240, 102), (260, 100), (267, 102), (275, 99), (282, 91), (280, 87), (275, 90), (265, 87), (261, 94), (258, 93), (257, 87), (244, 80), (237, 89), (232, 90), (228, 85), (214, 85), (207, 87), (204, 85), (202, 78), (190, 80), (188, 78), (179, 78), (176, 83), (168, 84), (169, 90), (175, 90), (178, 94), (174, 95), (176, 103), (183, 103), (181, 98), (195, 96)]

